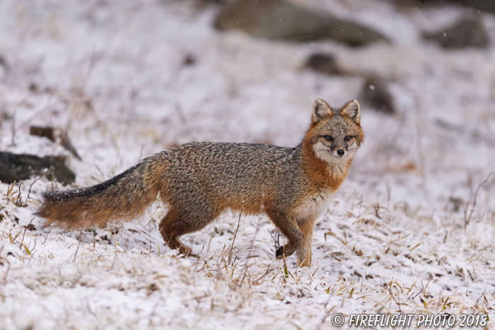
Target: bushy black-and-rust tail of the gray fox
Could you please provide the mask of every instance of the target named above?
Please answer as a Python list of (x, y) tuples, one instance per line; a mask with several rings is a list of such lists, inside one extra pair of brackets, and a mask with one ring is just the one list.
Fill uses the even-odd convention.
[(159, 163), (155, 155), (143, 163), (93, 187), (46, 191), (35, 213), (67, 229), (104, 227), (107, 223), (130, 220), (143, 213), (160, 191)]

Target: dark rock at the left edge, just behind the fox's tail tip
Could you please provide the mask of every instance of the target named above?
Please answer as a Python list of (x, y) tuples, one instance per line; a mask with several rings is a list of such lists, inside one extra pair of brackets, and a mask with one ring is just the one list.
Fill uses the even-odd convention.
[(33, 175), (40, 176), (45, 169), (49, 169), (45, 174), (47, 179), (56, 179), (64, 185), (73, 183), (76, 179), (74, 172), (55, 159), (57, 158), (0, 152), (0, 181), (19, 182)]

